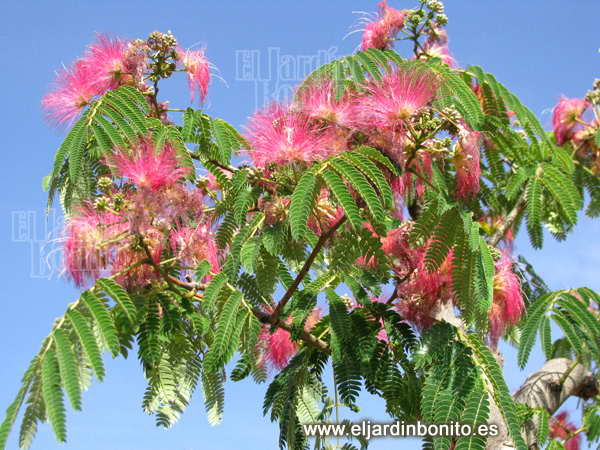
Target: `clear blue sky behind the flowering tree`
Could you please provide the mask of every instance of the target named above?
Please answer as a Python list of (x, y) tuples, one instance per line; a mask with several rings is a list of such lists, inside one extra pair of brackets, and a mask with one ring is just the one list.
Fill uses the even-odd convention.
[[(416, 1), (392, 0), (397, 8)], [(494, 73), (521, 97), (546, 126), (549, 110), (561, 94), (583, 96), (600, 76), (600, 3), (595, 0), (451, 0), (451, 50), (462, 66), (477, 64)], [(215, 81), (208, 112), (236, 126), (265, 98), (284, 93), (306, 73), (304, 65), (352, 52), (359, 35), (343, 39), (358, 16), (373, 11), (374, 1), (169, 2), (130, 0), (15, 1), (0, 6), (0, 110), (2, 123), (0, 177), (0, 407), (12, 401), (18, 381), (55, 317), (76, 290), (52, 277), (40, 264), (45, 227), (45, 193), (41, 179), (49, 172), (63, 130), (49, 126), (39, 106), (54, 70), (79, 56), (95, 32), (144, 38), (153, 30), (172, 30), (184, 47), (207, 47), (207, 55), (225, 82)], [(270, 64), (270, 65), (269, 65)], [(187, 106), (183, 79), (161, 90), (172, 106)], [(52, 221), (52, 220), (51, 220)], [(547, 239), (543, 252), (517, 250), (533, 262), (555, 289), (589, 286), (600, 290), (598, 222), (582, 219), (565, 243)], [(507, 353), (511, 389), (524, 379)], [(539, 367), (537, 352), (527, 369)], [(201, 398), (170, 431), (155, 428), (140, 408), (145, 387), (135, 357), (107, 361), (107, 377), (84, 397), (84, 412), (68, 414), (69, 442), (58, 445), (49, 426), (42, 426), (34, 449), (85, 450), (263, 450), (276, 448), (277, 430), (262, 417), (265, 386), (230, 383), (225, 421), (207, 424)], [(356, 417), (377, 417), (381, 403), (365, 399)], [(418, 448), (414, 441), (375, 441), (371, 448)], [(8, 448), (16, 448), (13, 434)]]

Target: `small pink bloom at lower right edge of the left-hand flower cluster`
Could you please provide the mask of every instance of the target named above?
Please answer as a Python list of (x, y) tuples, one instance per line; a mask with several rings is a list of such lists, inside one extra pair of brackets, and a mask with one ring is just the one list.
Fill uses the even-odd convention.
[(217, 244), (208, 226), (179, 227), (169, 236), (173, 254), (186, 266), (197, 266), (201, 261), (210, 263), (212, 271), (219, 271)]

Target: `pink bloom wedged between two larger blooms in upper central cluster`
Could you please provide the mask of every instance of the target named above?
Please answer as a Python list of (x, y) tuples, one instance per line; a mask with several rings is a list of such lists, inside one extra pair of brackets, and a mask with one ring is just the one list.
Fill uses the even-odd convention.
[(340, 100), (336, 100), (333, 82), (330, 80), (303, 88), (298, 92), (295, 106), (313, 119), (341, 126), (350, 126), (352, 123), (352, 98), (346, 94)]

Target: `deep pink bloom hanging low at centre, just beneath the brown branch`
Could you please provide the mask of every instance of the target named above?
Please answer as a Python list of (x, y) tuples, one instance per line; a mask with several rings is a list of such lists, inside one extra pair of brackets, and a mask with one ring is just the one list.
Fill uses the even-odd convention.
[[(304, 329), (310, 331), (320, 318), (321, 310), (315, 308), (306, 319)], [(287, 322), (291, 323), (291, 317)], [(298, 345), (292, 341), (290, 333), (282, 328), (277, 328), (271, 333), (267, 327), (264, 327), (259, 339), (265, 360), (278, 370), (287, 366), (290, 358), (298, 351)]]

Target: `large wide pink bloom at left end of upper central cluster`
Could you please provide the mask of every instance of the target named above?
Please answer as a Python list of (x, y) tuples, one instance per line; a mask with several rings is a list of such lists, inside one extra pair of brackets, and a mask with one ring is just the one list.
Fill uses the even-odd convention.
[(345, 149), (345, 135), (332, 127), (321, 127), (309, 116), (287, 105), (272, 103), (251, 117), (246, 138), (254, 164), (286, 165), (320, 161)]

